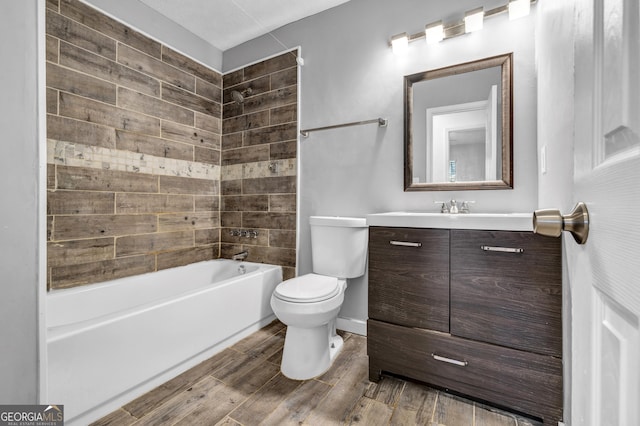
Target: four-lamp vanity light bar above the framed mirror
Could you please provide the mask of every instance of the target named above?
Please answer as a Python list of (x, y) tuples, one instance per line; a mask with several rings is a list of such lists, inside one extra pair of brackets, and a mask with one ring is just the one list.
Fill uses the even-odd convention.
[(478, 7), (467, 11), (462, 20), (452, 24), (444, 25), (440, 20), (427, 24), (424, 32), (416, 34), (396, 34), (391, 37), (389, 45), (393, 47), (394, 53), (400, 53), (408, 50), (410, 42), (421, 38), (426, 38), (427, 44), (432, 44), (473, 31), (478, 31), (483, 28), (485, 19), (502, 13), (509, 12), (510, 20), (528, 15), (531, 9), (531, 4), (536, 1), (538, 0), (509, 0), (507, 4), (489, 9), (486, 12), (484, 11), (484, 7)]

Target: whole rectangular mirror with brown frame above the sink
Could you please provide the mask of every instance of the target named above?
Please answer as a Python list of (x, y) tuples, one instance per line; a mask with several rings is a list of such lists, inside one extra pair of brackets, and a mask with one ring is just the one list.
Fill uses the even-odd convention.
[(405, 191), (513, 188), (511, 57), (404, 77)]

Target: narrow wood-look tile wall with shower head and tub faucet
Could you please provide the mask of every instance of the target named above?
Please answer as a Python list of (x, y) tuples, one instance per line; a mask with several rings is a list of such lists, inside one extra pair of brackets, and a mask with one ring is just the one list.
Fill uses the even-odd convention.
[[(287, 52), (223, 78), (220, 251), (295, 276), (298, 70)], [(250, 89), (247, 90), (247, 89)], [(233, 91), (244, 94), (235, 102)], [(257, 238), (232, 235), (257, 230)]]

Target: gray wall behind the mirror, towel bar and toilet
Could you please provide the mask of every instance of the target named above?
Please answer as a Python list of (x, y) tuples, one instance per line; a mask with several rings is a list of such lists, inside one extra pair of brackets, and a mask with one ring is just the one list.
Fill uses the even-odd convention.
[[(282, 27), (273, 34), (286, 46), (301, 46), (300, 126), (302, 129), (366, 120), (375, 124), (312, 133), (300, 143), (299, 273), (311, 271), (311, 215), (355, 215), (393, 210), (436, 211), (435, 200), (475, 200), (476, 211), (531, 212), (537, 206), (536, 76), (534, 16), (516, 22), (506, 15), (485, 21), (474, 34), (426, 45), (410, 44), (396, 56), (390, 37), (416, 33), (443, 19), (461, 19), (466, 10), (504, 2), (481, 0), (351, 0)], [(223, 71), (281, 51), (265, 36), (224, 52)], [(475, 192), (403, 191), (403, 76), (487, 56), (514, 52), (513, 190)], [(367, 317), (366, 278), (349, 284), (342, 317)]]

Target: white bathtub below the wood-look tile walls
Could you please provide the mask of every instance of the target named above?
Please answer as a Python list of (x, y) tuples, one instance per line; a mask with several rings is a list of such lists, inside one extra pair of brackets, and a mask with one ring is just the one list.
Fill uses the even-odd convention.
[(49, 292), (47, 401), (67, 425), (102, 417), (275, 319), (281, 281), (279, 266), (211, 260)]

